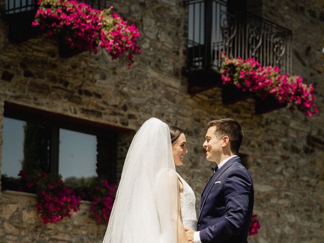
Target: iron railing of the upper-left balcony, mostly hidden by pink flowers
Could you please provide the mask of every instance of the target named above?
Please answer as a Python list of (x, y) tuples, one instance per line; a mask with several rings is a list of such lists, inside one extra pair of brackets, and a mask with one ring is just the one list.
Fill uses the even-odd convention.
[[(95, 9), (106, 9), (118, 0), (79, 0)], [(6, 0), (5, 15), (37, 10), (37, 0)]]

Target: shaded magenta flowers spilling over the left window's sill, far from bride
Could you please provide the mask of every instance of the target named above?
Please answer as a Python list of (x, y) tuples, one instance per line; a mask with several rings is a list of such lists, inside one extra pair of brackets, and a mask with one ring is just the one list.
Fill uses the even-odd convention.
[(71, 211), (79, 210), (81, 198), (64, 184), (61, 176), (55, 178), (43, 172), (30, 176), (24, 171), (18, 175), (25, 181), (27, 188), (35, 188), (36, 210), (41, 214), (44, 224), (61, 221), (64, 217), (70, 218)]

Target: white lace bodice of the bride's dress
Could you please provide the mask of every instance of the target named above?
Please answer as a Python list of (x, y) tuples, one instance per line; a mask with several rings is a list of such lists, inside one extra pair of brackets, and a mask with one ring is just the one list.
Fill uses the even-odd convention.
[(183, 192), (180, 192), (181, 217), (183, 226), (186, 228), (193, 228), (196, 230), (196, 198), (193, 190), (188, 185), (188, 183), (180, 175), (179, 178), (183, 184)]

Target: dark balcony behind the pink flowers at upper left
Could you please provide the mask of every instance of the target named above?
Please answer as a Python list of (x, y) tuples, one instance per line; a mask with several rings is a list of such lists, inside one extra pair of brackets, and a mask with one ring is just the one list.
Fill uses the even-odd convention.
[[(5, 0), (5, 2), (6, 8), (2, 13), (2, 18), (8, 22), (8, 36), (11, 43), (19, 44), (45, 32), (45, 30), (31, 26), (38, 9), (37, 0)], [(105, 9), (111, 6), (112, 1), (83, 0), (79, 2), (86, 3), (92, 8)], [(62, 48), (65, 47), (60, 44), (60, 49)], [(66, 50), (63, 50), (62, 53), (66, 53)]]

